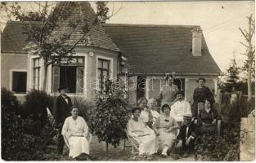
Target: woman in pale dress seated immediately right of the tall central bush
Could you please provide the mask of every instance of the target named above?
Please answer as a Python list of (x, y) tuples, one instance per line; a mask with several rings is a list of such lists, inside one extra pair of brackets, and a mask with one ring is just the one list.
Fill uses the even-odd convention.
[(157, 141), (154, 130), (139, 121), (141, 108), (132, 108), (133, 117), (128, 121), (128, 136), (139, 145), (139, 154), (154, 154), (157, 152)]

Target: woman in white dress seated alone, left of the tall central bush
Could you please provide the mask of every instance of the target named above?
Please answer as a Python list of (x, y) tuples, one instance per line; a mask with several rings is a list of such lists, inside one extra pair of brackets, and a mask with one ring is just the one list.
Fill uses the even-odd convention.
[(65, 119), (62, 132), (65, 143), (70, 148), (70, 155), (76, 160), (86, 156), (89, 159), (89, 130), (83, 117), (79, 117), (79, 108), (73, 107), (70, 117)]

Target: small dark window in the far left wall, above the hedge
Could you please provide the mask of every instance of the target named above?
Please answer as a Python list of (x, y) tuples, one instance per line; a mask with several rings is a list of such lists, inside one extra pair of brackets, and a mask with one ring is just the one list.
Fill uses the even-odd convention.
[(24, 94), (27, 90), (27, 72), (12, 72), (11, 90), (16, 94)]

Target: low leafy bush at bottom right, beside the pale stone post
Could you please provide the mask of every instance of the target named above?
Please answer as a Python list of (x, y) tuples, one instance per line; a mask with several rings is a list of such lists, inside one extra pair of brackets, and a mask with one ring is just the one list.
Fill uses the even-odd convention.
[(240, 123), (224, 124), (222, 136), (205, 134), (195, 151), (199, 161), (239, 161)]

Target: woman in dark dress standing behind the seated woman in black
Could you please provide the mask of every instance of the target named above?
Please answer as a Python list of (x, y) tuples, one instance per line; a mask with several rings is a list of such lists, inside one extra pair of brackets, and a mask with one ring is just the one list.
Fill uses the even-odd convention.
[(193, 94), (193, 104), (192, 104), (192, 116), (197, 117), (198, 113), (198, 104), (204, 103), (205, 99), (209, 99), (211, 103), (214, 103), (214, 96), (209, 87), (204, 86), (205, 78), (199, 77), (197, 80), (198, 87), (195, 88)]

